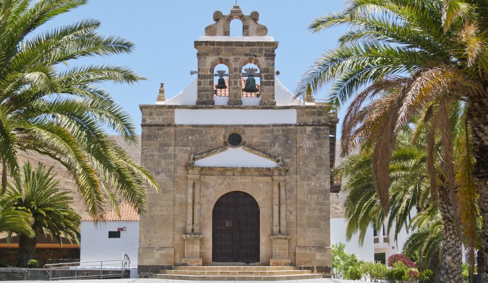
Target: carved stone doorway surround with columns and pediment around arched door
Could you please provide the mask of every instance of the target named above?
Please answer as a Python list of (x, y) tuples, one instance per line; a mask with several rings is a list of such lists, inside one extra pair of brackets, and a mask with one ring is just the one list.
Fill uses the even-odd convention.
[(277, 162), (276, 167), (205, 167), (195, 166), (194, 161), (221, 150), (189, 157), (187, 168), (187, 219), (183, 235), (185, 254), (182, 263), (202, 266), (212, 260), (212, 210), (216, 201), (225, 193), (243, 191), (250, 194), (260, 209), (260, 258), (259, 263), (270, 266), (290, 265), (286, 234), (286, 172), (279, 157), (246, 148)]

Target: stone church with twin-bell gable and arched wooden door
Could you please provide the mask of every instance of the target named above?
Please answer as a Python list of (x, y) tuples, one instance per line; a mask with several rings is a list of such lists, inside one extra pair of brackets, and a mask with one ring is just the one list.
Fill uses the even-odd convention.
[[(229, 36), (233, 19), (243, 36)], [(140, 105), (141, 163), (161, 193), (149, 190), (140, 219), (139, 273), (240, 264), (330, 276), (337, 116), (312, 97), (294, 99), (275, 77), (279, 44), (258, 12), (236, 5), (213, 20), (194, 42), (195, 81), (171, 99), (162, 84), (155, 104)], [(257, 71), (243, 69), (249, 63)], [(216, 75), (218, 64), (228, 74)], [(259, 79), (253, 93), (249, 73)]]

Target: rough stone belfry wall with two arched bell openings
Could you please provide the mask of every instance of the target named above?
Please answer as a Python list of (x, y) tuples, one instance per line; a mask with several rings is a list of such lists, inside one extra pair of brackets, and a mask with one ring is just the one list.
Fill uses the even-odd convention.
[(242, 105), (241, 73), (244, 65), (259, 67), (261, 80), (261, 105), (276, 105), (275, 101), (275, 50), (276, 41), (195, 41), (198, 50), (198, 105), (213, 105), (213, 74), (215, 66), (229, 68), (228, 105)]

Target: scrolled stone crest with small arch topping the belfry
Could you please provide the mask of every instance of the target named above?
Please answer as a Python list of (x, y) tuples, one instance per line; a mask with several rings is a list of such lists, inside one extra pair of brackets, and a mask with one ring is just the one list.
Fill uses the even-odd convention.
[(242, 36), (266, 36), (268, 28), (258, 24), (259, 13), (254, 11), (246, 16), (238, 5), (235, 5), (229, 15), (223, 15), (221, 11), (213, 13), (215, 24), (205, 28), (205, 36), (230, 36), (230, 22), (239, 19), (243, 23)]

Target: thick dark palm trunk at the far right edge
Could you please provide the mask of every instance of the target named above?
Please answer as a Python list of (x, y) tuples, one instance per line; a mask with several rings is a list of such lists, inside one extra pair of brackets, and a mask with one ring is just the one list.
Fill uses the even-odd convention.
[[(471, 123), (473, 154), (476, 162), (473, 179), (477, 183), (480, 212), (483, 217), (481, 249), (479, 256), (485, 262), (488, 259), (488, 89), (483, 96), (472, 96), (468, 101), (468, 121)], [(483, 275), (483, 282), (488, 282), (488, 268), (478, 264), (478, 274)]]

